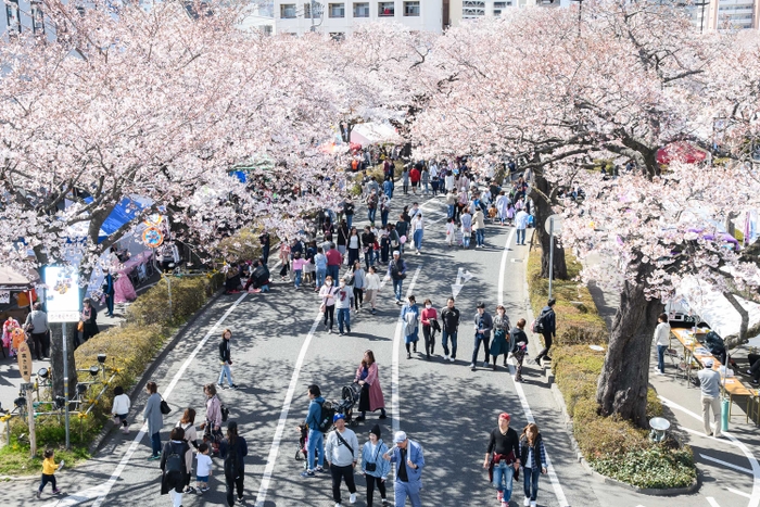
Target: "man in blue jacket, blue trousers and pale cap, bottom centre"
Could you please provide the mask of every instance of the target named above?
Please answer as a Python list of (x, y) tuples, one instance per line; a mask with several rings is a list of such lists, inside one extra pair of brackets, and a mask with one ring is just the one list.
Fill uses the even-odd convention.
[(396, 481), (393, 487), (396, 507), (406, 504), (408, 497), (411, 507), (421, 507), (422, 500), (419, 491), (422, 487), (422, 468), (425, 467), (425, 456), (422, 447), (406, 438), (403, 431), (396, 431), (393, 435), (393, 447), (382, 457), (396, 464)]

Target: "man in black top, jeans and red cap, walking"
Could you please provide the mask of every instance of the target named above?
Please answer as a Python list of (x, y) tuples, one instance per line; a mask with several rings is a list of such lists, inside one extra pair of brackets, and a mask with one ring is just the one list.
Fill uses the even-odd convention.
[(517, 431), (509, 428), (509, 414), (498, 415), (498, 427), (491, 432), (485, 451), (483, 468), (492, 471), (496, 498), (502, 507), (509, 507), (512, 496), (512, 478), (520, 468), (520, 440)]

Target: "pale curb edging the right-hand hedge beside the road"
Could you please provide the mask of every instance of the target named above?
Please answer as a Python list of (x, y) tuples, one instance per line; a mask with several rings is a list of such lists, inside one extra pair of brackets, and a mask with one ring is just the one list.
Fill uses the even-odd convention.
[[(528, 297), (525, 299), (525, 312), (530, 317), (533, 317), (533, 309), (531, 307), (531, 302), (530, 302), (530, 292), (528, 288), (528, 280), (524, 280), (524, 287), (525, 287), (525, 294), (528, 294)], [(531, 340), (531, 342), (535, 342), (535, 340)], [(613, 486), (622, 487), (628, 491), (632, 491), (634, 493), (638, 493), (642, 495), (648, 495), (648, 496), (679, 496), (679, 495), (688, 495), (692, 493), (696, 493), (699, 487), (701, 486), (701, 473), (699, 469), (697, 469), (697, 479), (694, 480), (694, 482), (686, 487), (672, 487), (668, 490), (660, 490), (660, 489), (653, 489), (653, 487), (637, 487), (631, 484), (626, 484), (624, 482), (618, 481), (617, 479), (609, 478), (607, 476), (603, 476), (601, 473), (595, 471), (593, 468), (591, 468), (591, 465), (588, 465), (588, 461), (583, 457), (583, 453), (581, 452), (581, 447), (578, 445), (578, 441), (575, 440), (575, 435), (573, 434), (573, 423), (572, 423), (572, 418), (568, 414), (568, 407), (565, 404), (565, 396), (562, 396), (561, 391), (559, 391), (559, 388), (557, 386), (556, 383), (554, 383), (554, 372), (552, 371), (552, 368), (545, 368), (542, 365), (539, 365), (539, 367), (542, 369), (544, 377), (546, 377), (546, 380), (549, 384), (549, 391), (552, 391), (552, 396), (554, 397), (555, 403), (557, 404), (557, 407), (559, 408), (559, 411), (561, 413), (561, 422), (565, 424), (565, 430), (566, 433), (568, 434), (568, 439), (570, 440), (570, 446), (572, 447), (573, 453), (575, 453), (575, 459), (578, 462), (581, 464), (581, 467), (586, 471), (586, 473), (591, 477), (593, 477), (597, 482), (604, 483), (604, 484), (610, 484)]]

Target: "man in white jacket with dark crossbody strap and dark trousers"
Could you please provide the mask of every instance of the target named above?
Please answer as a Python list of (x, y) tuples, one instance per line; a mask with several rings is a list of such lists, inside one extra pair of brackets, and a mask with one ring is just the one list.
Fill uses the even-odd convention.
[(343, 414), (335, 414), (332, 422), (335, 424), (335, 431), (327, 435), (325, 456), (332, 476), (332, 499), (335, 500), (335, 507), (341, 507), (341, 479), (349, 486), (351, 503), (356, 503), (354, 468), (359, 459), (359, 441), (356, 433), (345, 427)]

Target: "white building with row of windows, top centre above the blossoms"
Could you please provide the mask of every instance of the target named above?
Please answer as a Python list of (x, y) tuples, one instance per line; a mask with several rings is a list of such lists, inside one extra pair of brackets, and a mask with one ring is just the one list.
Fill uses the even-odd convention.
[(444, 2), (448, 0), (275, 0), (276, 31), (303, 35), (315, 30), (340, 39), (363, 23), (388, 21), (440, 34)]

